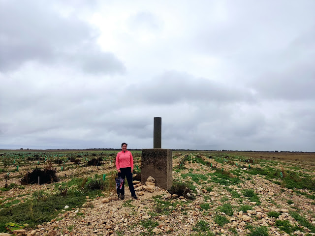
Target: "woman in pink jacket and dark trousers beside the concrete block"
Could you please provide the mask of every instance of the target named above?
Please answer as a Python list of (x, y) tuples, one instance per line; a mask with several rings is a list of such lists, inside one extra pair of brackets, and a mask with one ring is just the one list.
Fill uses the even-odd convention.
[[(122, 151), (117, 153), (116, 156), (116, 168), (118, 172), (118, 176), (122, 177), (125, 181), (125, 177), (127, 178), (129, 190), (131, 193), (131, 197), (133, 199), (138, 199), (136, 193), (134, 192), (134, 187), (132, 184), (132, 172), (133, 172), (133, 157), (130, 151), (127, 150), (127, 144), (122, 143)], [(125, 187), (124, 184), (120, 191), (120, 199), (125, 198)]]

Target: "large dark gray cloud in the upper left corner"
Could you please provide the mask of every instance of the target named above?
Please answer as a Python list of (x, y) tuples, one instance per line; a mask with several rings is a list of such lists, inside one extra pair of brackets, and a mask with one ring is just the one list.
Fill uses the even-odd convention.
[(125, 66), (96, 44), (98, 32), (75, 15), (61, 16), (46, 1), (2, 1), (0, 70), (25, 62), (73, 63), (88, 73), (123, 73)]

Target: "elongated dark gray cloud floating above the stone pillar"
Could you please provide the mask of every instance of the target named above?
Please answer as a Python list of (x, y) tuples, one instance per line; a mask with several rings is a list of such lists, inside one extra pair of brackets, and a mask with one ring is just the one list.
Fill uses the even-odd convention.
[(187, 73), (168, 71), (141, 84), (132, 84), (127, 96), (140, 103), (170, 104), (177, 102), (254, 102), (249, 89), (205, 78), (195, 78)]

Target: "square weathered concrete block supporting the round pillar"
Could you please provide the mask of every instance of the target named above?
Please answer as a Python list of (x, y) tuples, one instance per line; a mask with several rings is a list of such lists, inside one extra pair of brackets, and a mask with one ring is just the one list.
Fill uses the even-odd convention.
[(172, 171), (172, 149), (142, 149), (141, 183), (152, 176), (157, 186), (168, 190), (173, 184)]

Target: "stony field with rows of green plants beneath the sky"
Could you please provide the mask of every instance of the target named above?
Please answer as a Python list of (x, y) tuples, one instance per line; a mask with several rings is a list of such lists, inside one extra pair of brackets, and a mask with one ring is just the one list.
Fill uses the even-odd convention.
[(315, 153), (173, 151), (169, 191), (117, 201), (117, 151), (1, 150), (0, 233), (315, 235)]

